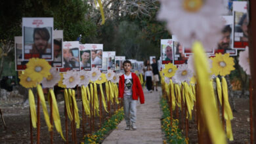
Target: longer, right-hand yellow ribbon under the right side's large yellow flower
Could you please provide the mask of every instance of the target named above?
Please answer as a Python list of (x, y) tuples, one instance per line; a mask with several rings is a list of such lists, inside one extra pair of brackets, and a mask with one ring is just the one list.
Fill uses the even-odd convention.
[(221, 81), (223, 84), (224, 118), (226, 119), (226, 137), (228, 137), (230, 141), (233, 141), (234, 138), (232, 134), (232, 127), (230, 124), (230, 120), (233, 119), (233, 113), (228, 102), (228, 86), (226, 84), (226, 79), (224, 77), (222, 77)]

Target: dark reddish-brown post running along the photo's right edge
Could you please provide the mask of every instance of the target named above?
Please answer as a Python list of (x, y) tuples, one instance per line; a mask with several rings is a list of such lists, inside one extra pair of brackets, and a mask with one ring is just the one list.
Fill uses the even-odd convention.
[[(256, 1), (249, 0), (249, 65), (251, 69), (251, 88), (252, 88), (252, 119), (256, 119)], [(253, 130), (256, 130), (255, 121), (253, 121)], [(253, 134), (253, 139), (256, 138), (256, 132)]]

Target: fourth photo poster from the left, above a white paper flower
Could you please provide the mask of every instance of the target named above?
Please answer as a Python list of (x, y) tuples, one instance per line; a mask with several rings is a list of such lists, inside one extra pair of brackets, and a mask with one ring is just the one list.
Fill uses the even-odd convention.
[(80, 71), (79, 60), (79, 41), (64, 41), (63, 42), (63, 67), (60, 72), (69, 70)]

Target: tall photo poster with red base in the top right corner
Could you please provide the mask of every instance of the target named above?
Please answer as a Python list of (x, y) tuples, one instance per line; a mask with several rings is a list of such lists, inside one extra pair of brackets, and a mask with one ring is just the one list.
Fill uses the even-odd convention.
[(245, 49), (248, 46), (247, 1), (233, 1), (234, 45), (233, 48)]

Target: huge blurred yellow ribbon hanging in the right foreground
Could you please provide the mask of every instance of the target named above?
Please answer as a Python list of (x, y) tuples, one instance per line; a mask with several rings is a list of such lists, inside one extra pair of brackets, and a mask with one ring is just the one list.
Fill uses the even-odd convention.
[(195, 42), (192, 46), (194, 52), (194, 65), (196, 68), (197, 82), (198, 82), (198, 98), (200, 98), (200, 109), (203, 115), (205, 126), (209, 132), (211, 141), (215, 144), (226, 143), (225, 134), (222, 128), (221, 120), (217, 109), (215, 109), (215, 103), (213, 102), (213, 95), (211, 92), (211, 83), (209, 81), (208, 72), (208, 60), (205, 56), (202, 44)]

